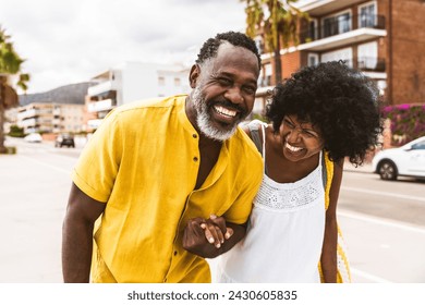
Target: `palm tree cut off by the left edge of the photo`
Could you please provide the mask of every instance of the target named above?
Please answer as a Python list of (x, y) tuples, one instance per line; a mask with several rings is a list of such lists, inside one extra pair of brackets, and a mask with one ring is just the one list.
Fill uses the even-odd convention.
[(5, 152), (4, 147), (4, 111), (19, 106), (16, 91), (13, 89), (12, 77), (17, 76), (16, 86), (27, 89), (29, 75), (21, 73), (23, 59), (15, 52), (10, 36), (0, 26), (0, 154)]

